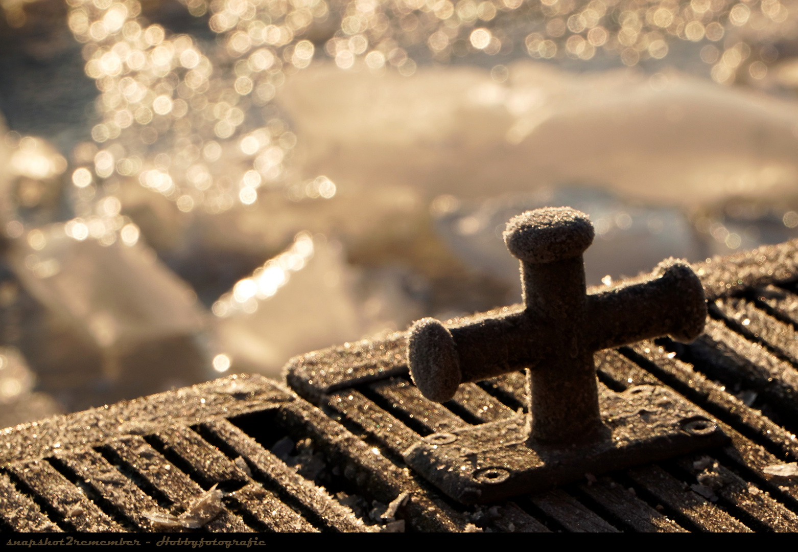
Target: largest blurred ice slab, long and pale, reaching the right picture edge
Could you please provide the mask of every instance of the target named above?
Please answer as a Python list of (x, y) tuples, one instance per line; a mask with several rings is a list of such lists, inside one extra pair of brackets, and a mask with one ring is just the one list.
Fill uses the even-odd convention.
[(287, 80), (278, 100), (306, 170), (342, 193), (378, 185), (486, 197), (589, 182), (660, 205), (795, 195), (794, 102), (654, 77), (517, 62), (500, 85), (468, 67), (405, 78), (315, 66)]

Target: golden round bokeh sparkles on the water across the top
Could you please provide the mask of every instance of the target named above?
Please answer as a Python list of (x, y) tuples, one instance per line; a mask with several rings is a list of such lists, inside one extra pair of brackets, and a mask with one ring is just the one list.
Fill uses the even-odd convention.
[[(180, 1), (193, 16), (209, 17), (218, 47), (148, 24), (138, 0), (69, 0), (69, 29), (84, 43), (85, 72), (101, 91), (92, 137), (103, 149), (93, 168), (75, 169), (77, 187), (138, 177), (182, 212), (211, 213), (235, 201), (254, 204), (257, 185), (228, 189), (229, 179), (242, 182), (253, 171), (270, 189), (295, 189), (286, 169), (292, 148), (281, 139), (289, 125), (271, 101), (286, 76), (322, 56), (340, 69), (410, 76), (420, 62), (516, 48), (531, 58), (601, 55), (636, 66), (666, 58), (674, 41), (709, 40), (717, 46), (706, 45), (701, 60), (713, 65), (715, 81), (731, 84), (762, 81), (775, 61), (768, 41), (796, 33), (780, 0)], [(320, 44), (313, 30), (330, 24), (332, 36)], [(721, 42), (729, 33), (737, 42)], [(231, 157), (234, 146), (243, 157)], [(156, 167), (159, 154), (172, 157), (168, 169)], [(52, 170), (25, 162), (34, 172)], [(334, 196), (326, 190), (302, 197)]]

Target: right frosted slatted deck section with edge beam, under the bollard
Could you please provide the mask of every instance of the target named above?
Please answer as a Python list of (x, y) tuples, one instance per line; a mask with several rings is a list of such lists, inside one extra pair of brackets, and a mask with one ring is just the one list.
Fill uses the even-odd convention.
[[(798, 459), (795, 245), (701, 265), (710, 316), (695, 343), (645, 341), (595, 355), (603, 386), (671, 387), (717, 418), (728, 446), (587, 475), (496, 506), (453, 507), (484, 530), (798, 530), (798, 478), (765, 471)], [(741, 278), (724, 284), (731, 270)], [(522, 373), (464, 385), (443, 405), (425, 399), (407, 375), (405, 344), (397, 333), (316, 351), (294, 359), (286, 377), (400, 467), (402, 452), (426, 435), (508, 418), (523, 407)]]

